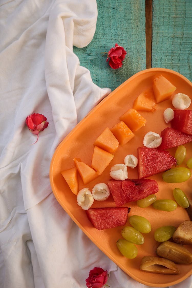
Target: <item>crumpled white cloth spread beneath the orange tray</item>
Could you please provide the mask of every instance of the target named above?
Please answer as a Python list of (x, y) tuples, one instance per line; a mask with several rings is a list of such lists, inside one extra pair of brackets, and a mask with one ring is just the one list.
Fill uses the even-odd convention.
[[(96, 20), (96, 0), (0, 0), (2, 288), (83, 288), (95, 266), (110, 272), (111, 288), (146, 287), (91, 242), (50, 187), (56, 147), (110, 93), (73, 53), (90, 43)], [(25, 124), (32, 113), (49, 122), (35, 145)]]

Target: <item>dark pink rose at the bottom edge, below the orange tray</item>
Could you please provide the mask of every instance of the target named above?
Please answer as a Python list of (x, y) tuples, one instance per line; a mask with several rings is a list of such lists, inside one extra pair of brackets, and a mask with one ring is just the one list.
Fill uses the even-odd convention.
[(100, 267), (90, 270), (89, 277), (85, 280), (88, 288), (102, 288), (107, 283), (108, 274)]

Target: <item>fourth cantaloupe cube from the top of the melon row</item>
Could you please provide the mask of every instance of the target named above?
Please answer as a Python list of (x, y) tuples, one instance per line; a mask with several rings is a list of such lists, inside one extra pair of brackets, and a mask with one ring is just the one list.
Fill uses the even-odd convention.
[(111, 132), (122, 146), (135, 136), (131, 129), (123, 121), (120, 121), (115, 126), (113, 126), (111, 128)]

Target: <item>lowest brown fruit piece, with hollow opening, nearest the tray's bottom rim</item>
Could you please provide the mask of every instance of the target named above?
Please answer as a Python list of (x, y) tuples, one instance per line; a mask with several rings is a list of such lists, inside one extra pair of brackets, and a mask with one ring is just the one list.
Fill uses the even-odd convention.
[(168, 259), (145, 256), (141, 260), (140, 270), (158, 274), (179, 274), (176, 264)]

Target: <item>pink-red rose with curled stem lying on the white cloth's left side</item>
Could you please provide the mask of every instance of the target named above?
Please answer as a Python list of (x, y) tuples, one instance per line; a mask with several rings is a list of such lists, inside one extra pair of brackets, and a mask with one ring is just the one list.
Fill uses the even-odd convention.
[[(39, 113), (33, 113), (26, 118), (26, 125), (29, 128), (29, 131), (35, 135), (37, 135), (37, 140), (39, 138), (39, 132), (43, 131), (47, 128), (49, 122), (46, 121), (47, 118)], [(35, 143), (37, 142), (35, 141)], [(33, 144), (35, 144), (33, 143)]]

